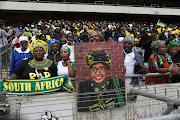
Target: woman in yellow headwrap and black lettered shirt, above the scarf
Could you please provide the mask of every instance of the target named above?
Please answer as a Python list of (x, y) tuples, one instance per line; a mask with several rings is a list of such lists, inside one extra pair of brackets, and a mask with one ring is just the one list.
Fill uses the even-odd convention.
[(48, 49), (47, 43), (35, 40), (29, 48), (34, 58), (23, 61), (9, 78), (40, 79), (57, 76), (57, 67), (53, 61), (43, 58)]

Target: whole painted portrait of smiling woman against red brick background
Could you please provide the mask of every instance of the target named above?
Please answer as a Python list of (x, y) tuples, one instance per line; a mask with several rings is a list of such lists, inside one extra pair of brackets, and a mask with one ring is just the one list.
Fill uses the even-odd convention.
[(124, 107), (123, 44), (93, 42), (75, 44), (78, 111)]

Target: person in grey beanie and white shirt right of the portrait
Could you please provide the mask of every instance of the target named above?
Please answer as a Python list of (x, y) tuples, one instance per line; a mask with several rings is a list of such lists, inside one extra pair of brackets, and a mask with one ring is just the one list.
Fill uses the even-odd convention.
[[(124, 46), (124, 66), (125, 70), (122, 72), (128, 74), (142, 74), (146, 72), (142, 56), (133, 50), (135, 39), (132, 36), (127, 36), (123, 40)], [(125, 86), (130, 87), (132, 85), (139, 84), (138, 78), (125, 78)]]

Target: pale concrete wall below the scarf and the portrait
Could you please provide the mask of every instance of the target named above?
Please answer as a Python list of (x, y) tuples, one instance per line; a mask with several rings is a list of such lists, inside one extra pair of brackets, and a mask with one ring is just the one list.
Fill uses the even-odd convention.
[[(178, 98), (179, 86), (180, 83), (176, 83), (141, 86), (134, 89), (140, 88), (142, 91), (147, 90), (148, 92)], [(126, 94), (129, 93), (130, 89), (126, 88)], [(20, 120), (41, 119), (45, 114), (47, 114), (46, 116), (54, 115), (63, 120), (133, 120), (140, 114), (146, 115), (146, 117), (161, 116), (161, 113), (167, 109), (167, 103), (139, 95), (135, 101), (127, 101), (126, 107), (97, 112), (77, 112), (75, 93), (55, 92), (31, 96), (8, 95), (7, 99), (10, 104), (9, 118)]]

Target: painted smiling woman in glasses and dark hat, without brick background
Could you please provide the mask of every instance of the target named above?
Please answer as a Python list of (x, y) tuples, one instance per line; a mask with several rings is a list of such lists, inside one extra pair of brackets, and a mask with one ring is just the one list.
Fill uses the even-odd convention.
[(78, 84), (78, 111), (124, 107), (124, 81), (107, 77), (112, 63), (110, 53), (103, 49), (94, 49), (86, 56), (86, 60), (92, 79)]

